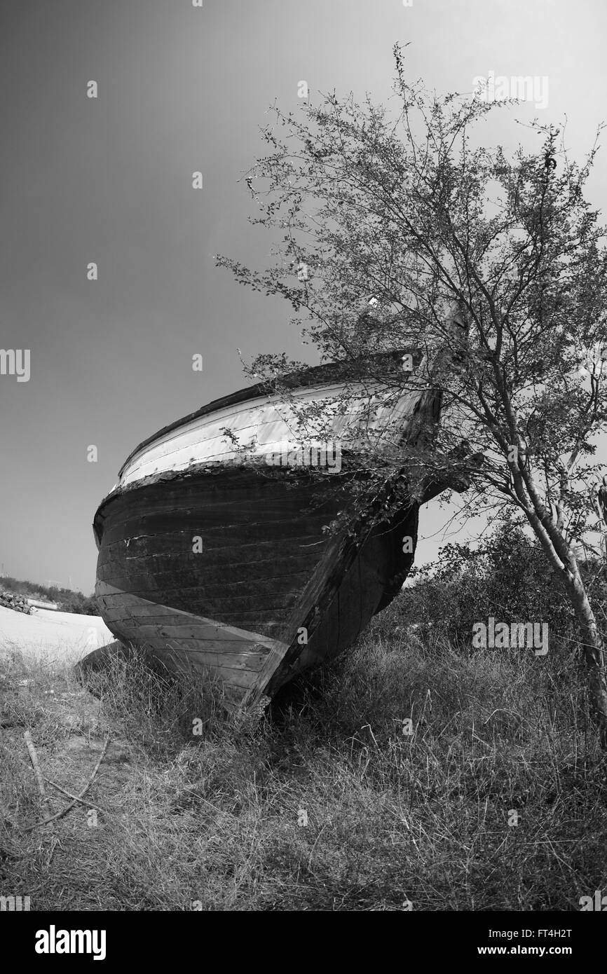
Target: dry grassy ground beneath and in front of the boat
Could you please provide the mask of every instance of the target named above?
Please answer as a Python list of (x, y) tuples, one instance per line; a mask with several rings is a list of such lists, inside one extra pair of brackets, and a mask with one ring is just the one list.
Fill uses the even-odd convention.
[[(238, 731), (141, 664), (99, 700), (7, 653), (0, 689), (0, 893), (32, 910), (578, 910), (607, 887), (606, 762), (564, 654), (467, 658), (397, 600)], [(111, 736), (96, 824), (22, 830), (44, 817), (26, 730), (73, 794)]]

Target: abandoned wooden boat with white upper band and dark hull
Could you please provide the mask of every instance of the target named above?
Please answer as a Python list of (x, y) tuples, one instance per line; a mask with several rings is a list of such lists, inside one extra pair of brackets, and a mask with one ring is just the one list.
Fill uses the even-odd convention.
[[(412, 353), (414, 369), (420, 359)], [(345, 381), (335, 363), (288, 376), (284, 388), (297, 406), (331, 401)], [(367, 422), (398, 421), (402, 440), (420, 412), (437, 420), (438, 393), (405, 385), (389, 401), (378, 389), (360, 381), (348, 414), (331, 418), (351, 459), (369, 394), (379, 405)], [(323, 526), (348, 505), (347, 471), (311, 478), (287, 465), (269, 475), (225, 435), (250, 439), (249, 460), (267, 463), (292, 445), (291, 419), (267, 382), (216, 399), (139, 444), (95, 513), (95, 595), (108, 628), (170, 668), (220, 679), (232, 706), (271, 697), (350, 646), (413, 561), (418, 503), (390, 523), (329, 536)]]

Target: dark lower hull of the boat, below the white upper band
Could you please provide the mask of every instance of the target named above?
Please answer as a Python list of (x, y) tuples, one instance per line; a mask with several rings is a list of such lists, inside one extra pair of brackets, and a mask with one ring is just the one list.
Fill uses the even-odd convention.
[(271, 697), (347, 649), (412, 564), (417, 505), (323, 532), (349, 498), (345, 474), (223, 465), (119, 488), (95, 515), (100, 614), (171, 669), (221, 681), (230, 704)]

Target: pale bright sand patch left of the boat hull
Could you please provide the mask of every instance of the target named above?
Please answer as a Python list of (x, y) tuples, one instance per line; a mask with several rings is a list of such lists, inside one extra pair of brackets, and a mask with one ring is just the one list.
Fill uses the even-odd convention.
[(100, 616), (35, 609), (31, 616), (0, 607), (0, 653), (18, 650), (48, 662), (74, 663), (114, 636)]

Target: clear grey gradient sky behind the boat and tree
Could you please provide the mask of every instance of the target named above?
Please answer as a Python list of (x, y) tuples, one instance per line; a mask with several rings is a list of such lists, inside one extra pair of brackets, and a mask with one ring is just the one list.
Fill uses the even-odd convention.
[[(492, 113), (482, 140), (512, 152), (515, 119), (566, 116), (582, 160), (606, 28), (603, 0), (2, 0), (0, 349), (30, 350), (30, 374), (0, 375), (0, 571), (90, 593), (95, 508), (133, 447), (247, 386), (239, 348), (315, 361), (289, 306), (213, 259), (271, 262), (243, 173), (275, 101), (297, 110), (305, 80), (315, 101), (385, 102), (393, 45), (410, 42), (407, 76), (439, 93), (546, 76), (547, 106)], [(601, 154), (587, 192), (604, 209)], [(447, 518), (423, 509), (418, 562), (474, 537)]]

